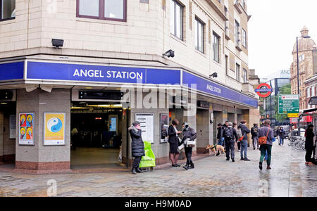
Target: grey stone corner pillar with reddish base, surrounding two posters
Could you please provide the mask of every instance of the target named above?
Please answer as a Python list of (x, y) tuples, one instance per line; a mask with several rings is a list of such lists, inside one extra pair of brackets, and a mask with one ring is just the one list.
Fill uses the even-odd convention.
[[(35, 113), (35, 146), (18, 143), (19, 113)], [(65, 146), (44, 146), (44, 113), (66, 113)], [(16, 115), (15, 169), (36, 173), (70, 171), (70, 89), (53, 89), (51, 93), (19, 89)]]

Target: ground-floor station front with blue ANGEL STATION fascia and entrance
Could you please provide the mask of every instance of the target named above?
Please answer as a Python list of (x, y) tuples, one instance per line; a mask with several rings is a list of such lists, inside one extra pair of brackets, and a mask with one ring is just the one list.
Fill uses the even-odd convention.
[(0, 134), (2, 148), (16, 170), (43, 173), (130, 165), (128, 127), (135, 120), (157, 165), (169, 162), (163, 131), (174, 118), (197, 130), (194, 155), (203, 153), (216, 141), (216, 124), (239, 117), (251, 124), (258, 103), (182, 68), (60, 60), (0, 63), (0, 89), (15, 93), (1, 98), (12, 105), (0, 106), (0, 126), (11, 129)]

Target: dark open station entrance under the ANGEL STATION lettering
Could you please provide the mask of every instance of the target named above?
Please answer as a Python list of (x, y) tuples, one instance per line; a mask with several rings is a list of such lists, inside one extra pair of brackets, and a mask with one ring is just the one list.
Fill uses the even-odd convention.
[(72, 169), (123, 167), (126, 110), (116, 103), (73, 103), (71, 108)]

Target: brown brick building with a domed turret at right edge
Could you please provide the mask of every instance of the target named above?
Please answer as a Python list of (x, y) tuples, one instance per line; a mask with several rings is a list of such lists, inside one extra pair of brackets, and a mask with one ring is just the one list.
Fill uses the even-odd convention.
[[(292, 94), (299, 94), (299, 109), (304, 110), (309, 108), (307, 98), (316, 91), (311, 89), (312, 84), (309, 82), (309, 87), (305, 83), (308, 79), (317, 74), (317, 49), (316, 43), (311, 38), (304, 38), (309, 35), (307, 27), (301, 30), (302, 38), (298, 40), (299, 51), (299, 93), (297, 88), (297, 44), (294, 44), (292, 51), (293, 63), (291, 65), (291, 86)], [(309, 80), (310, 81), (310, 80)], [(307, 92), (309, 91), (309, 92)]]

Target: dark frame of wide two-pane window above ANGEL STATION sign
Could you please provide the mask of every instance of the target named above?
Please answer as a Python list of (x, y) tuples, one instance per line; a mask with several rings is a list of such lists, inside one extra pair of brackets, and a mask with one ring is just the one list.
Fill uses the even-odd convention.
[(123, 0), (123, 19), (104, 17), (105, 16), (104, 15), (104, 12), (105, 12), (104, 7), (105, 7), (105, 0), (99, 0), (99, 16), (80, 15), (80, 0), (76, 0), (76, 17), (77, 18), (90, 18), (90, 19), (98, 19), (98, 20), (111, 20), (111, 21), (118, 21), (118, 22), (127, 22), (127, 0)]

